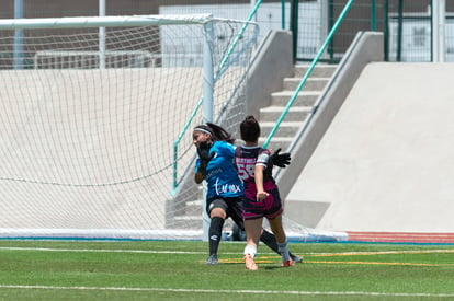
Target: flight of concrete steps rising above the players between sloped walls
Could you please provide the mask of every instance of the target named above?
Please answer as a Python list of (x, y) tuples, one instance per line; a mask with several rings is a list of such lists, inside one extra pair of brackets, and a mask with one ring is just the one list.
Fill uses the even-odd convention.
[[(294, 77), (285, 78), (283, 81), (283, 90), (271, 94), (271, 105), (260, 109), (259, 120), (262, 128), (262, 137), (259, 139), (259, 144), (265, 141), (308, 68), (309, 66), (306, 65), (296, 65)], [(336, 65), (320, 65), (314, 68), (305, 86), (298, 93), (298, 96), (271, 139), (268, 148), (274, 150), (282, 148), (283, 151), (288, 149), (295, 135), (304, 125), (307, 116), (313, 112), (314, 104), (321, 95), (321, 92), (334, 73), (336, 68)]]

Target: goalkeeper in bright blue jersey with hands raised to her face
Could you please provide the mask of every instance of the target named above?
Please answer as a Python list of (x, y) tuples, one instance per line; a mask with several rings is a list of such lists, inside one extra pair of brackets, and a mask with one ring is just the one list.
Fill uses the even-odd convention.
[[(209, 256), (208, 265), (218, 263), (217, 250), (220, 242), (224, 221), (230, 217), (241, 229), (243, 185), (234, 166), (235, 139), (224, 128), (207, 123), (196, 126), (192, 134), (193, 143), (197, 148), (198, 159), (195, 163), (195, 183), (207, 183), (206, 212), (211, 218), (208, 230)], [(260, 240), (277, 253), (274, 235), (265, 230), (259, 234)], [(295, 262), (302, 257), (292, 255)]]

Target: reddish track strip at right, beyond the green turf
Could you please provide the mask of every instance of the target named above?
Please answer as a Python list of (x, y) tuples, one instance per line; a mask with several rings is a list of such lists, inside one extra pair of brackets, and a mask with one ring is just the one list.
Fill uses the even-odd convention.
[(393, 243), (454, 243), (454, 233), (350, 232), (349, 241)]

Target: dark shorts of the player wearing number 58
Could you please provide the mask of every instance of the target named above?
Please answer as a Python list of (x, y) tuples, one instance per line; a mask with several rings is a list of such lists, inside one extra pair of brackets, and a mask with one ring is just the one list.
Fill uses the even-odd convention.
[(262, 201), (245, 198), (242, 204), (242, 218), (252, 220), (259, 218), (274, 219), (283, 212), (281, 197), (277, 189), (268, 192), (270, 196)]

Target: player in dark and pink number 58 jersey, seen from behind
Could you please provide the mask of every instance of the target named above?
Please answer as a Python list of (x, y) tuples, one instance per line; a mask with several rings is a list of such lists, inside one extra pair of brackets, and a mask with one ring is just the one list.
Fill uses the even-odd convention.
[(235, 152), (235, 165), (245, 184), (242, 217), (247, 244), (245, 247), (246, 268), (257, 270), (254, 256), (262, 231), (263, 218), (266, 218), (274, 233), (283, 266), (292, 266), (287, 239), (282, 225), (282, 201), (277, 185), (272, 176), (271, 152), (259, 147), (260, 125), (253, 116), (240, 124), (241, 139), (246, 144)]

